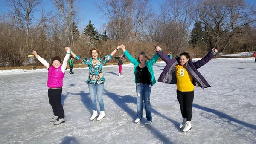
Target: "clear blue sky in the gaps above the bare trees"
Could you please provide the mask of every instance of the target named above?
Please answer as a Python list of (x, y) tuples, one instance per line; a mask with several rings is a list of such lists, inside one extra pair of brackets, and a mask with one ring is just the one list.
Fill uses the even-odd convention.
[[(154, 8), (157, 8), (160, 3), (163, 3), (164, 0), (151, 0), (152, 5)], [(247, 3), (251, 4), (256, 4), (256, 0), (245, 0)], [(83, 15), (82, 21), (79, 25), (79, 30), (84, 29), (84, 27), (88, 24), (89, 20), (92, 21), (94, 24), (95, 28), (99, 30), (102, 29), (102, 24), (105, 23), (105, 20), (102, 19), (102, 14), (98, 13), (96, 11), (96, 8), (94, 6), (94, 3), (101, 3), (102, 0), (80, 0), (80, 7), (83, 8), (81, 9), (81, 14)], [(52, 0), (44, 0), (43, 2), (44, 9), (46, 11), (51, 10), (53, 8)], [(8, 12), (8, 7), (5, 6), (5, 1), (0, 0), (0, 15)], [(35, 14), (36, 17), (36, 14)]]

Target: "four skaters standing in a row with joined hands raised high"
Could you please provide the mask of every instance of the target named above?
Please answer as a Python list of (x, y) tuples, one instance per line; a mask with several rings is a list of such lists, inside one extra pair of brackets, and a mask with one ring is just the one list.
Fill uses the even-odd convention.
[[(50, 65), (46, 60), (41, 58), (36, 51), (33, 51), (35, 57), (49, 70), (47, 80), (47, 86), (49, 87), (48, 97), (54, 115), (50, 122), (54, 122), (54, 125), (65, 122), (64, 110), (61, 105), (61, 93), (67, 62), (69, 58), (71, 59), (70, 54), (73, 56), (73, 58), (79, 60), (79, 62), (84, 63), (89, 67), (87, 83), (93, 108), (90, 120), (93, 121), (97, 119), (100, 121), (105, 118), (102, 95), (106, 79), (102, 73), (102, 67), (105, 63), (110, 61), (111, 58), (113, 58), (113, 55), (119, 49), (122, 49), (124, 53), (124, 55), (114, 57), (115, 59), (119, 60), (119, 76), (122, 75), (122, 60), (125, 58), (125, 56), (134, 65), (134, 82), (136, 84), (137, 93), (137, 118), (134, 122), (140, 122), (141, 118), (143, 117), (142, 111), (144, 101), (146, 112), (145, 124), (148, 125), (152, 123), (150, 93), (151, 86), (156, 83), (153, 65), (160, 57), (166, 62), (166, 66), (157, 81), (177, 85), (177, 99), (179, 101), (180, 111), (182, 114), (180, 129), (183, 128), (183, 132), (188, 132), (191, 130), (194, 86), (199, 86), (201, 88), (210, 87), (208, 82), (197, 69), (209, 62), (209, 60), (211, 60), (217, 54), (218, 50), (215, 48), (212, 48), (212, 50), (201, 60), (192, 62), (190, 55), (186, 52), (183, 52), (179, 55), (179, 57), (172, 59), (168, 55), (165, 55), (159, 46), (155, 46), (156, 54), (153, 56), (153, 58), (149, 58), (145, 52), (140, 52), (137, 58), (133, 58), (125, 49), (125, 45), (123, 44), (114, 49), (111, 54), (106, 55), (103, 58), (98, 58), (99, 50), (96, 48), (90, 49), (90, 58), (80, 58), (71, 50), (71, 47), (65, 47), (67, 54), (65, 55), (62, 65), (61, 59), (58, 56), (52, 58), (52, 63)], [(70, 69), (70, 72), (72, 72), (72, 69)], [(97, 101), (100, 107), (99, 115)]]

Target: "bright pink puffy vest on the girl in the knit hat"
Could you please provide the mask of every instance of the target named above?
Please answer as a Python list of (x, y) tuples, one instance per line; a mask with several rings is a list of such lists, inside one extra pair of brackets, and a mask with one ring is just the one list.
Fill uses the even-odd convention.
[(47, 80), (47, 86), (49, 88), (57, 88), (63, 86), (63, 78), (65, 73), (61, 72), (61, 66), (57, 69), (54, 66), (49, 68)]

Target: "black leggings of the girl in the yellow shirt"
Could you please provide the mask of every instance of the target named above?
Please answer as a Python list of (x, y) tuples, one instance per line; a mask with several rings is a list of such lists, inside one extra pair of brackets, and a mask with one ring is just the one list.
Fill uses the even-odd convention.
[(192, 119), (192, 104), (194, 100), (194, 91), (180, 92), (177, 90), (177, 98), (180, 103), (180, 111), (183, 118), (187, 121)]

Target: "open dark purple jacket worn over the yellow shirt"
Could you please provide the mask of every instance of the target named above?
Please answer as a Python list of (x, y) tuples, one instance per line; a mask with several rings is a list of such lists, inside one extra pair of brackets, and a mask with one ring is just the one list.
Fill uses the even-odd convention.
[[(175, 74), (175, 65), (180, 64), (180, 57), (175, 59), (169, 59), (163, 52), (157, 51), (159, 57), (166, 62), (166, 66), (163, 69), (163, 72), (158, 78), (158, 82), (168, 83), (168, 84), (177, 84), (177, 78)], [(192, 62), (189, 60), (186, 63), (186, 70), (188, 73), (193, 77), (193, 84), (194, 86), (199, 86), (201, 88), (211, 87), (208, 82), (204, 79), (199, 69), (201, 66), (204, 66), (206, 63), (211, 60), (216, 53), (214, 51), (209, 52), (204, 58), (198, 60), (196, 62)]]

